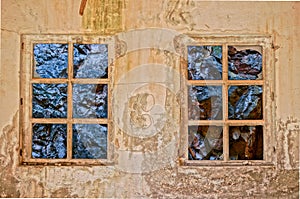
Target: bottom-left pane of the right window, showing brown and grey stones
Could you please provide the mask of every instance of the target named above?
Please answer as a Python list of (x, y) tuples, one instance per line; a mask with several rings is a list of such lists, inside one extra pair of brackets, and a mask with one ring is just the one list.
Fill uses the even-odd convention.
[(220, 126), (189, 126), (189, 160), (222, 160), (223, 129)]

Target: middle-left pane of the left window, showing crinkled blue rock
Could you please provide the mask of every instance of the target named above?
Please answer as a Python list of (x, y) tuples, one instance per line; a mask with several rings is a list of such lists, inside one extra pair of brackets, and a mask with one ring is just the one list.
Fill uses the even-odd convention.
[(66, 118), (67, 84), (32, 84), (32, 117)]

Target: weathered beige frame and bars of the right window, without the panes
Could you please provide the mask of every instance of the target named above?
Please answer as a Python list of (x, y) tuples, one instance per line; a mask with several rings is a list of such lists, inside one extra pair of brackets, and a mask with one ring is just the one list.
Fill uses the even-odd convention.
[[(181, 129), (179, 163), (181, 166), (271, 166), (275, 161), (275, 72), (274, 50), (270, 35), (189, 35), (183, 45), (181, 81), (183, 105), (181, 106)], [(187, 47), (188, 46), (222, 46), (222, 80), (188, 80)], [(262, 49), (262, 80), (228, 80), (228, 46), (260, 46)], [(188, 86), (222, 86), (222, 120), (189, 120), (188, 119)], [(235, 85), (261, 85), (263, 87), (262, 120), (229, 120), (228, 119), (228, 87)], [(188, 159), (188, 126), (216, 125), (223, 127), (223, 160), (189, 160)], [(262, 125), (263, 126), (263, 160), (230, 160), (229, 159), (229, 126)]]

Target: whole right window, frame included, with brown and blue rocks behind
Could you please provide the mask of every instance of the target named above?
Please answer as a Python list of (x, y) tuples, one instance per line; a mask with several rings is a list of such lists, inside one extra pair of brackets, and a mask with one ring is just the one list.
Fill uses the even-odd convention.
[(185, 47), (184, 164), (272, 162), (270, 38), (193, 37)]

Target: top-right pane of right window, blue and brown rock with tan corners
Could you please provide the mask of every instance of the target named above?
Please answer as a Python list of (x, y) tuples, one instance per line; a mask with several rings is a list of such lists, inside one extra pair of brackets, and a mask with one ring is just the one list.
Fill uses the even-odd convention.
[(262, 79), (260, 46), (228, 46), (228, 79)]

